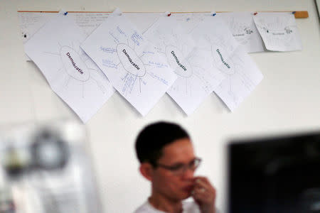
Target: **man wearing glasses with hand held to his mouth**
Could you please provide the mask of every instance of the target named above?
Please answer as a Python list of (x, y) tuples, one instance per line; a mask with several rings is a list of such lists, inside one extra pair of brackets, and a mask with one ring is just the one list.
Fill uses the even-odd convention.
[[(215, 188), (207, 178), (194, 176), (201, 159), (181, 126), (150, 124), (139, 133), (135, 148), (151, 196), (134, 213), (218, 213)], [(194, 202), (183, 202), (191, 196)]]

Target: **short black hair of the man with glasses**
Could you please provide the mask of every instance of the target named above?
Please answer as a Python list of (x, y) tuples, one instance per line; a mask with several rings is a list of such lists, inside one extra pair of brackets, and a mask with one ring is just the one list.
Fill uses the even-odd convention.
[(156, 168), (164, 146), (178, 139), (190, 138), (187, 131), (174, 123), (159, 121), (140, 131), (136, 139), (136, 154), (140, 163), (150, 163)]

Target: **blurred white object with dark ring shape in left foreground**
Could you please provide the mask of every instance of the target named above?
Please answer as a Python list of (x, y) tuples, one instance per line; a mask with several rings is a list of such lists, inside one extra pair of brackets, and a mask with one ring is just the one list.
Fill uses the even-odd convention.
[(85, 127), (70, 121), (0, 129), (1, 213), (100, 213)]

